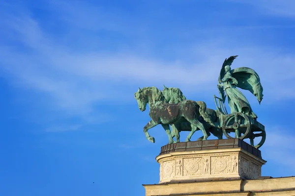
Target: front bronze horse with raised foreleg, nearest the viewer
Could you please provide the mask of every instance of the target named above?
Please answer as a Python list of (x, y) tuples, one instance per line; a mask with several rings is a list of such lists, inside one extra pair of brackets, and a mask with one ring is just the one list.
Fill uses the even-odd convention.
[(148, 134), (148, 129), (161, 124), (168, 135), (168, 144), (174, 143), (169, 125), (178, 123), (190, 123), (191, 132), (187, 136), (186, 142), (190, 141), (191, 136), (197, 129), (203, 132), (203, 140), (207, 140), (208, 135), (205, 127), (198, 120), (201, 114), (199, 111), (200, 106), (196, 101), (183, 100), (177, 104), (169, 104), (162, 92), (156, 87), (138, 88), (134, 97), (142, 112), (146, 110), (147, 104), (149, 105), (149, 117), (151, 120), (144, 127), (144, 133), (150, 142), (154, 143), (155, 139)]

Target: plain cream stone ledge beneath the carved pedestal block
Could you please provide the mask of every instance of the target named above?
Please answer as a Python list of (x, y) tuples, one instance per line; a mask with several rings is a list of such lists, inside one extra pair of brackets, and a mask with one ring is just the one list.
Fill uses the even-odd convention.
[(295, 176), (145, 184), (146, 196), (295, 196)]

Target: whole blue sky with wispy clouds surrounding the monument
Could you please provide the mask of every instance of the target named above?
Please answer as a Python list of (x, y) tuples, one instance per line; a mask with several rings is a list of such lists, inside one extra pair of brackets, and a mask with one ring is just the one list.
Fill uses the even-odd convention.
[(168, 138), (146, 139), (134, 93), (165, 84), (215, 108), (231, 55), (264, 87), (261, 105), (245, 93), (266, 126), (262, 174), (295, 175), (294, 24), (293, 0), (2, 0), (1, 195), (145, 195)]

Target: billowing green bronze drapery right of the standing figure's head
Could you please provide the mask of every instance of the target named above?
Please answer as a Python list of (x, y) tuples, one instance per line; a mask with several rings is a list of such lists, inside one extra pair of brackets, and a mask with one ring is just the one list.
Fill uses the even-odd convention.
[(247, 67), (240, 67), (231, 70), (232, 76), (237, 80), (237, 87), (250, 91), (259, 101), (263, 99), (263, 87), (259, 75)]

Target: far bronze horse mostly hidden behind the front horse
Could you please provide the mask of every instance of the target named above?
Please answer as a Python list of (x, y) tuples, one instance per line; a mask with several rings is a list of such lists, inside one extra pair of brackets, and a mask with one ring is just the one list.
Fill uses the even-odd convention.
[[(176, 104), (176, 103), (186, 99), (185, 96), (180, 91), (180, 89), (172, 88), (172, 87), (167, 88), (165, 85), (164, 85), (164, 90), (162, 91), (162, 94), (168, 103), (175, 103)], [(198, 104), (203, 106), (203, 110), (204, 109), (206, 110), (205, 112), (210, 117), (209, 121), (211, 120), (211, 122), (213, 124), (215, 123), (214, 125), (212, 125), (212, 123), (208, 123), (208, 122), (204, 121), (204, 118), (202, 116), (200, 116), (199, 121), (204, 124), (204, 127), (207, 131), (208, 136), (210, 136), (211, 135), (210, 133), (212, 133), (218, 139), (222, 139), (223, 133), (217, 127), (218, 117), (217, 117), (216, 111), (213, 109), (207, 108), (205, 102), (203, 102), (203, 101), (199, 101)], [(172, 124), (171, 127), (172, 127), (172, 133), (171, 133), (172, 138), (175, 137), (177, 142), (180, 142), (179, 141), (179, 132), (180, 131), (191, 131), (190, 123)], [(200, 137), (197, 141), (202, 140), (203, 137), (204, 136)]]

